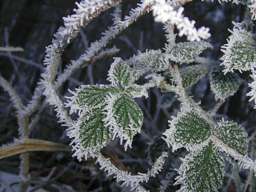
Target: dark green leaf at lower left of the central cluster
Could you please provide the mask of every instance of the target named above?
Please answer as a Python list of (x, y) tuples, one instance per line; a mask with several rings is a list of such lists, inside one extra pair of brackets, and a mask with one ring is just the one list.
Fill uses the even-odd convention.
[(79, 139), (87, 151), (99, 151), (109, 143), (111, 133), (108, 127), (103, 124), (104, 117), (102, 109), (99, 108), (92, 109), (91, 113), (87, 114), (84, 119), (81, 117)]

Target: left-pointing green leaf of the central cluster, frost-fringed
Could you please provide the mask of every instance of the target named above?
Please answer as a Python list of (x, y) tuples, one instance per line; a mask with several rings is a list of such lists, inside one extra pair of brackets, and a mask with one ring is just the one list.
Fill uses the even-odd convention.
[(117, 92), (117, 88), (107, 85), (81, 86), (75, 93), (74, 100), (80, 108), (95, 108), (104, 104), (106, 95)]

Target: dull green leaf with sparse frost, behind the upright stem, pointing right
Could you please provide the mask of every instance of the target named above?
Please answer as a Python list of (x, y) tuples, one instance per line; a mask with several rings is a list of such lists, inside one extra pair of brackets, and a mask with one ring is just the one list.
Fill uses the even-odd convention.
[(180, 69), (182, 86), (188, 88), (199, 81), (210, 70), (209, 65), (188, 66)]

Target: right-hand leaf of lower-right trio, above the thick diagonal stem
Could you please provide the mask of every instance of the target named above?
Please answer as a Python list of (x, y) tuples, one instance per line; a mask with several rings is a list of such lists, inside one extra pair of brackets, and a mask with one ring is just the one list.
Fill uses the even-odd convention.
[(224, 121), (222, 119), (222, 121), (217, 123), (213, 133), (233, 150), (241, 155), (247, 155), (247, 133), (242, 126), (235, 122)]

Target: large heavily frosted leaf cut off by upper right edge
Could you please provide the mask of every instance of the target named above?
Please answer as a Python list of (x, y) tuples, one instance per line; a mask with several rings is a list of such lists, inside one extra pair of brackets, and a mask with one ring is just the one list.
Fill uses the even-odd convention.
[(256, 35), (241, 28), (233, 28), (231, 33), (228, 43), (221, 47), (224, 72), (242, 72), (256, 67)]

